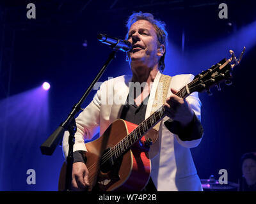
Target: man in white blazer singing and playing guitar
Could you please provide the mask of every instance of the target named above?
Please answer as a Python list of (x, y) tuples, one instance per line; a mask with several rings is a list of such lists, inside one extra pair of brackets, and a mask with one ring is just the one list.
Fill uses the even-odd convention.
[[(90, 140), (98, 126), (102, 135), (118, 118), (140, 124), (154, 109), (152, 106), (157, 87), (160, 87), (168, 45), (165, 24), (150, 13), (139, 12), (129, 17), (127, 29), (127, 40), (132, 44), (132, 50), (127, 52), (126, 60), (131, 66), (132, 76), (124, 75), (104, 82), (92, 102), (76, 118), (72, 187), (77, 191), (90, 186), (84, 140)], [(159, 151), (150, 158), (151, 173), (143, 188), (145, 191), (202, 191), (189, 150), (200, 143), (203, 135), (198, 92), (193, 92), (186, 99), (175, 95), (192, 80), (193, 75), (170, 77), (166, 101), (163, 101), (166, 117), (158, 129)], [(131, 82), (143, 84), (140, 91), (132, 91), (134, 87), (129, 88)], [(113, 98), (121, 96), (122, 106), (103, 103), (106, 90), (111, 91)], [(109, 94), (104, 102), (108, 97)], [(68, 133), (63, 138), (63, 153), (67, 157)]]

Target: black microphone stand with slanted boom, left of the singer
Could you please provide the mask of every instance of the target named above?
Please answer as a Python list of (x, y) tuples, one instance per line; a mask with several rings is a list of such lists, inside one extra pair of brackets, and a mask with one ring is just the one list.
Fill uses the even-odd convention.
[(82, 98), (79, 100), (79, 102), (73, 106), (72, 111), (69, 113), (67, 119), (64, 122), (62, 122), (60, 124), (60, 126), (52, 133), (52, 135), (49, 136), (49, 138), (47, 138), (47, 140), (45, 140), (45, 142), (40, 146), (40, 150), (41, 150), (42, 154), (51, 156), (52, 153), (54, 152), (54, 150), (56, 149), (57, 145), (59, 145), (61, 143), (61, 139), (63, 138), (64, 131), (69, 132), (69, 136), (68, 136), (69, 147), (68, 147), (68, 156), (67, 156), (67, 173), (66, 173), (66, 177), (65, 177), (65, 179), (66, 179), (65, 180), (65, 191), (71, 191), (72, 166), (73, 166), (73, 161), (74, 161), (74, 157), (73, 157), (73, 147), (74, 147), (74, 139), (75, 139), (74, 135), (76, 133), (75, 116), (80, 110), (83, 110), (83, 109), (81, 109), (81, 105), (82, 105), (84, 99), (86, 99), (86, 97), (88, 96), (90, 91), (92, 91), (93, 86), (95, 85), (96, 82), (98, 82), (99, 78), (102, 76), (102, 74), (104, 73), (104, 71), (107, 68), (107, 66), (109, 65), (109, 63), (113, 59), (115, 59), (116, 52), (119, 50), (119, 48), (115, 48), (115, 46), (116, 45), (112, 46), (113, 50), (112, 50), (111, 54), (109, 54), (107, 61), (100, 69), (100, 72), (95, 77), (95, 79), (93, 80), (90, 87), (86, 90), (86, 92), (84, 92), (84, 94), (83, 94)]

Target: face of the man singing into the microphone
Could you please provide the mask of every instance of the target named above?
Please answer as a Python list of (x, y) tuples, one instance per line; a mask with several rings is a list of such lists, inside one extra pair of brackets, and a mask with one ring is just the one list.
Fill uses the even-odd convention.
[(128, 41), (132, 43), (132, 50), (128, 52), (132, 65), (152, 67), (158, 64), (161, 54), (157, 41), (156, 30), (147, 20), (138, 20), (131, 25)]

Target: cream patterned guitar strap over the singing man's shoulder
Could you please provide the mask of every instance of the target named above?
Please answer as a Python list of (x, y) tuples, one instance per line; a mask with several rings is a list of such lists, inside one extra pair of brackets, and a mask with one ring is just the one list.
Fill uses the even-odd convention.
[[(152, 105), (152, 110), (150, 115), (152, 113), (156, 112), (160, 106), (162, 106), (167, 98), (168, 89), (170, 87), (172, 77), (168, 75), (161, 75), (160, 80), (157, 85), (156, 95), (155, 99)], [(150, 150), (148, 152), (148, 156), (150, 159), (154, 158), (158, 152), (159, 152), (159, 146), (160, 146), (160, 139), (159, 138), (159, 127), (160, 127), (161, 121), (159, 121), (148, 133), (145, 135), (145, 139), (148, 140), (150, 138), (152, 140), (152, 145), (150, 146)]]

